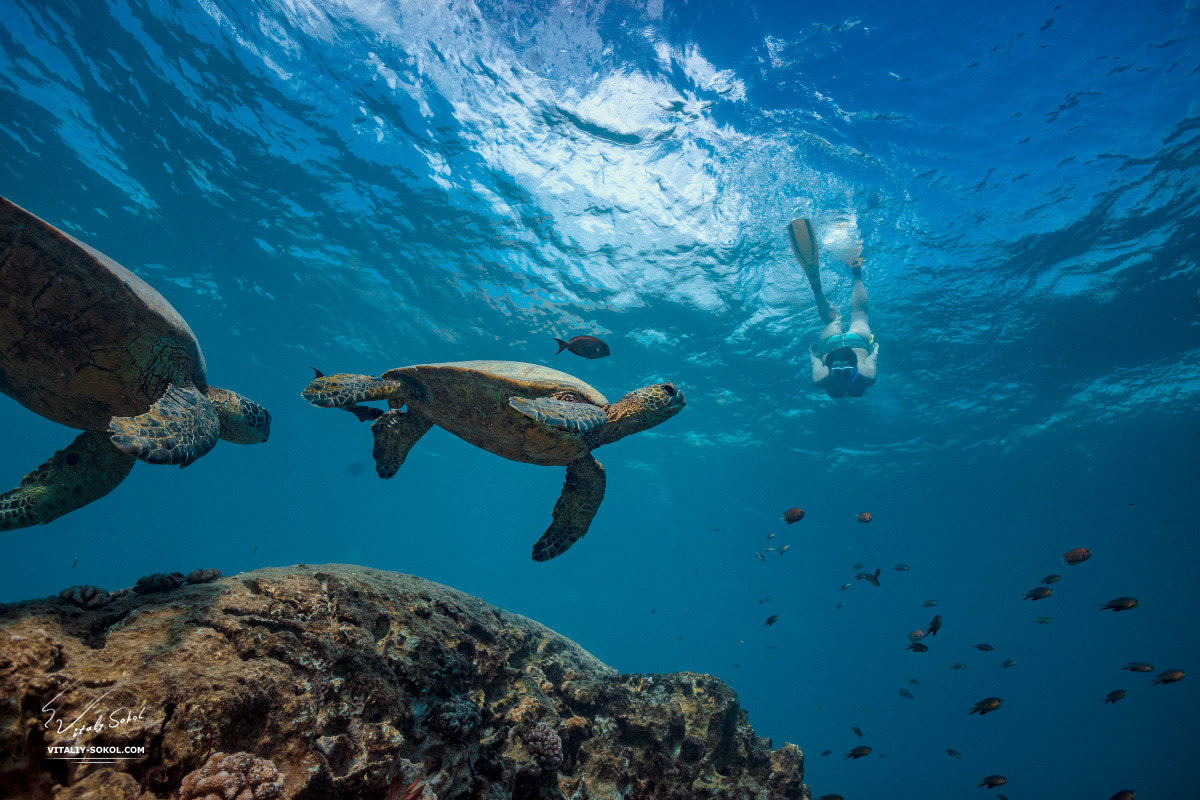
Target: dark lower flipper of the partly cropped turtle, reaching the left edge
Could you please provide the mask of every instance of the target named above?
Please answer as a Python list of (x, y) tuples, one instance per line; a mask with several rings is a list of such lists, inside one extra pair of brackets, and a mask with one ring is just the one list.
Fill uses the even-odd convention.
[(131, 469), (133, 458), (114, 447), (107, 434), (84, 431), (20, 486), (0, 494), (0, 530), (58, 519), (112, 492)]

